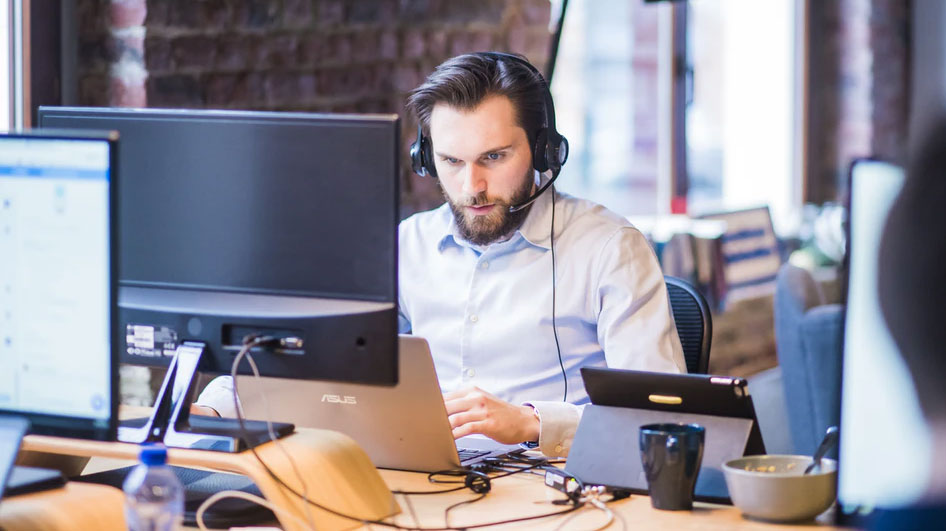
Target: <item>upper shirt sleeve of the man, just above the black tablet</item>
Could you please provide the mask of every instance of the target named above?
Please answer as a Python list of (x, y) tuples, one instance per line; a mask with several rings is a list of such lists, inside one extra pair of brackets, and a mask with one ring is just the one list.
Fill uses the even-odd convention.
[(663, 272), (644, 235), (618, 230), (602, 248), (597, 276), (598, 343), (608, 367), (685, 373)]

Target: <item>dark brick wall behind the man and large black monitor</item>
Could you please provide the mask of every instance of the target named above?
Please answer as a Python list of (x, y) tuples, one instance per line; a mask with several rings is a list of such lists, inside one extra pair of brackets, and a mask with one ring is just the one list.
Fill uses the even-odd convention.
[[(548, 0), (78, 0), (78, 12), (82, 105), (403, 114), (448, 57), (511, 51), (544, 68), (550, 38)], [(402, 214), (439, 204), (404, 158)]]

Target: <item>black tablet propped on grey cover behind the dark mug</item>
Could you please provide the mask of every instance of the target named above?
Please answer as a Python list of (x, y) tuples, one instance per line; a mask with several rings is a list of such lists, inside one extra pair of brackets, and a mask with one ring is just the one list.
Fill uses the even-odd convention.
[(742, 378), (584, 367), (585, 407), (565, 470), (589, 485), (647, 493), (640, 427), (663, 422), (706, 428), (694, 499), (732, 503), (722, 465), (765, 453), (748, 383)]

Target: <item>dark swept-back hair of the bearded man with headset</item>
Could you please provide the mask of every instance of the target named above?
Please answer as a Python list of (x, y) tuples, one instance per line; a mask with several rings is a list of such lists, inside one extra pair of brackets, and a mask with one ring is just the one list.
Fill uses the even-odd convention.
[[(523, 59), (525, 60), (525, 59)], [(425, 134), (430, 134), (430, 115), (438, 103), (456, 109), (475, 109), (486, 98), (505, 96), (516, 110), (516, 123), (535, 142), (536, 132), (546, 125), (545, 81), (526, 65), (483, 53), (458, 55), (446, 60), (414, 89), (407, 108)]]

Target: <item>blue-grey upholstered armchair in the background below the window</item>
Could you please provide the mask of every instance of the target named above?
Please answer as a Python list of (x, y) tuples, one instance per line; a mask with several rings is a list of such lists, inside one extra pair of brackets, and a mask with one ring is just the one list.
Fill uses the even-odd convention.
[(811, 274), (785, 264), (776, 277), (775, 344), (794, 453), (812, 454), (838, 424), (840, 304), (828, 304)]

